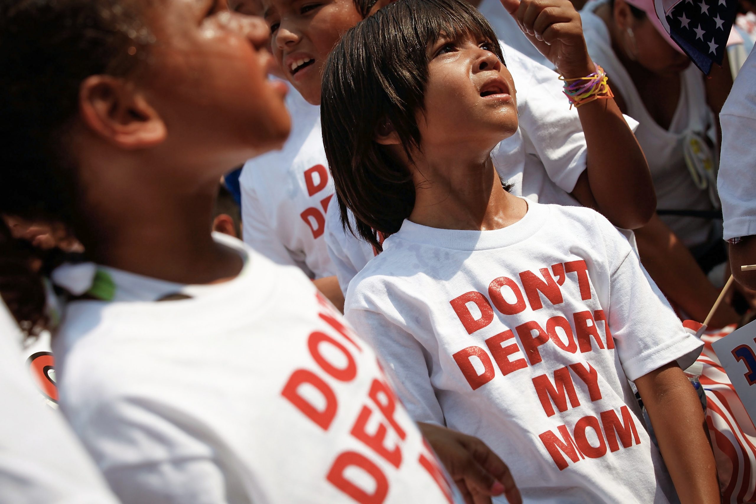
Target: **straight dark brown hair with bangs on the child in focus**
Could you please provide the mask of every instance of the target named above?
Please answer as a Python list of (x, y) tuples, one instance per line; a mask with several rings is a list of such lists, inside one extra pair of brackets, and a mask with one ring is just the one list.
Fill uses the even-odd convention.
[(376, 233), (396, 233), (415, 203), (407, 166), (375, 141), (384, 122), (404, 152), (420, 148), (416, 114), (424, 110), (426, 51), (441, 37), (476, 36), (500, 45), (484, 17), (461, 0), (397, 0), (346, 32), (333, 48), (323, 76), (321, 125), (336, 185), (342, 226), (378, 250)]

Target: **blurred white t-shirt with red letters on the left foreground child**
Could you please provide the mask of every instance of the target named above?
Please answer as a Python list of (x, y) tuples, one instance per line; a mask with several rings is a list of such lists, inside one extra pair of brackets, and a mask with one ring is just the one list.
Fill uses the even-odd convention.
[[(119, 498), (448, 502), (370, 347), (301, 271), (215, 240), (245, 260), (234, 280), (162, 289), (104, 268), (134, 301), (67, 306), (60, 408)], [(135, 300), (141, 280), (144, 299), (191, 298)]]

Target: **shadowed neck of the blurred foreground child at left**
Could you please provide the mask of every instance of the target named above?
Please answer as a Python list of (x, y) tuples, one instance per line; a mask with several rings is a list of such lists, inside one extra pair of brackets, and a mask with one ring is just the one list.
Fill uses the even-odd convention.
[(231, 280), (243, 261), (210, 235), (217, 186), (217, 179), (188, 191), (166, 184), (129, 191), (127, 185), (120, 194), (99, 196), (88, 212), (96, 222), (88, 223), (91, 233), (82, 237), (88, 257), (176, 283)]

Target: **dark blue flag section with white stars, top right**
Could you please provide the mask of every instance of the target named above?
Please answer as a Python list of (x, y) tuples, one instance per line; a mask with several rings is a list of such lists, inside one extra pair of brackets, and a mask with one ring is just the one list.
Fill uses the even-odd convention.
[(672, 40), (706, 75), (722, 64), (738, 0), (654, 0), (656, 15)]

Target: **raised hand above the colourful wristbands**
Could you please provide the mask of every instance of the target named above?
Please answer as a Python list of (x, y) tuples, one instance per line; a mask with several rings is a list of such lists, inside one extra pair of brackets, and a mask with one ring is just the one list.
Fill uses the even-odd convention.
[(583, 37), (580, 14), (569, 0), (501, 0), (525, 36), (566, 79), (595, 68)]

